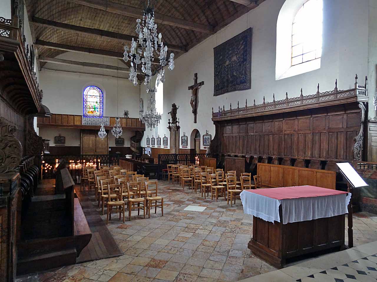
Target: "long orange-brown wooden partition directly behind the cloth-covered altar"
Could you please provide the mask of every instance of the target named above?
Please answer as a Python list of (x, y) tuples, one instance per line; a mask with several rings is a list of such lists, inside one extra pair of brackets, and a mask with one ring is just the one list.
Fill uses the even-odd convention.
[(258, 163), (257, 174), (261, 176), (262, 186), (268, 187), (312, 185), (335, 189), (336, 183), (335, 171), (290, 167), (286, 165)]

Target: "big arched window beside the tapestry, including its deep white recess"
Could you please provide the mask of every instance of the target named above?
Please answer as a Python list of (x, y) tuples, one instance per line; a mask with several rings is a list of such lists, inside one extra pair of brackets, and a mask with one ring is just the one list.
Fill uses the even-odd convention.
[(321, 67), (323, 0), (285, 0), (276, 23), (276, 80)]

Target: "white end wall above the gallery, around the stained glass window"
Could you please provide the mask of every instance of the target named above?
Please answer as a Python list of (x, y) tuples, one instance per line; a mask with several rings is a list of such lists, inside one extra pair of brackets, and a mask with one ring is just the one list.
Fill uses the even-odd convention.
[[(75, 52), (63, 53), (56, 58), (125, 67), (116, 59)], [(43, 104), (54, 114), (82, 115), (83, 89), (89, 85), (96, 85), (104, 92), (104, 116), (114, 117), (117, 111), (119, 116), (123, 116), (124, 110), (128, 110), (129, 117), (138, 117), (139, 86), (134, 86), (126, 78), (111, 76), (117, 75), (116, 71), (97, 70), (98, 74), (81, 73), (86, 70), (87, 68), (83, 67), (46, 64), (42, 68), (40, 78), (40, 86), (44, 93)], [(127, 73), (119, 73), (119, 75), (128, 77)]]

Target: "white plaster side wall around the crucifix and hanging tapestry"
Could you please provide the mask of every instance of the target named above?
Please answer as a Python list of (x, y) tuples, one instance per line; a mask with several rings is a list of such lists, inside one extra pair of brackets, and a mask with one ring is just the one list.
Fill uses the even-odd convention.
[[(225, 109), (229, 109), (231, 103), (232, 108), (236, 108), (238, 101), (241, 107), (245, 106), (245, 99), (248, 100), (248, 105), (253, 105), (254, 99), (258, 104), (263, 102), (263, 96), (266, 97), (266, 102), (269, 102), (272, 101), (273, 93), (276, 100), (284, 99), (285, 92), (288, 92), (288, 97), (297, 97), (300, 95), (300, 88), (303, 89), (303, 95), (314, 94), (317, 83), (320, 83), (321, 92), (334, 89), (335, 79), (338, 79), (339, 89), (348, 89), (353, 87), (356, 73), (359, 75), (359, 83), (364, 83), (364, 77), (368, 75), (368, 8), (369, 2), (375, 1), (323, 0), (323, 50), (320, 69), (275, 80), (276, 21), (284, 1), (263, 2), (258, 8), (233, 21), (176, 59), (175, 69), (165, 72), (164, 114), (158, 128), (160, 136), (165, 133), (169, 136), (166, 127), (170, 115), (167, 113), (172, 103), (179, 106), (177, 117), (180, 118), (181, 135), (186, 132), (186, 135), (190, 136), (196, 128), (201, 135), (208, 130), (214, 137), (212, 107), (214, 111), (218, 111), (218, 107), (223, 105)], [(213, 97), (213, 48), (249, 27), (253, 28), (251, 89)], [(191, 93), (187, 90), (187, 87), (193, 84), (194, 73), (198, 73), (199, 82), (204, 80), (205, 83), (199, 91), (197, 124), (193, 123)], [(145, 93), (144, 85), (141, 93), (142, 96)], [(373, 91), (369, 92), (370, 96), (372, 94)], [(145, 98), (144, 104), (145, 109)], [(142, 146), (146, 146), (147, 133), (149, 132), (146, 132)], [(191, 147), (190, 140), (188, 147)]]

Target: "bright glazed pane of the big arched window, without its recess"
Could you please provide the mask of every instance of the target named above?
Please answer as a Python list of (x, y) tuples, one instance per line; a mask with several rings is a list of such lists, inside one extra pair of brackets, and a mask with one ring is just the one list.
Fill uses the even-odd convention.
[(322, 0), (305, 2), (292, 24), (292, 64), (298, 65), (321, 57)]

